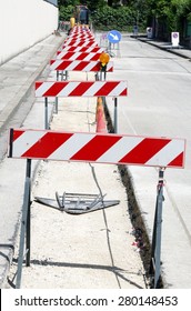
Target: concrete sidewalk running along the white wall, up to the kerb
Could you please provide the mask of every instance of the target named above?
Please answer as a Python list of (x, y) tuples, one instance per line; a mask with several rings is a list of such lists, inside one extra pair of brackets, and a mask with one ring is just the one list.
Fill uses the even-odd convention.
[[(56, 51), (63, 42), (66, 34), (51, 34), (32, 48), (23, 51), (0, 66), (0, 134), (16, 123), (14, 114), (20, 107), (26, 106), (29, 92), (33, 96), (33, 82), (41, 76)], [(43, 73), (42, 73), (43, 72)], [(44, 74), (44, 76), (43, 76)], [(31, 90), (32, 89), (32, 90)], [(13, 120), (12, 120), (13, 119)], [(18, 120), (17, 120), (18, 121)], [(0, 159), (4, 150), (0, 148)]]

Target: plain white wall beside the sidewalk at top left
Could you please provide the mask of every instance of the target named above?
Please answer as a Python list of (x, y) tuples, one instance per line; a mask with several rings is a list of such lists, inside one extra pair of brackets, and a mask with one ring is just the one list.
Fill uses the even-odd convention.
[(57, 30), (58, 14), (43, 0), (0, 0), (0, 63)]

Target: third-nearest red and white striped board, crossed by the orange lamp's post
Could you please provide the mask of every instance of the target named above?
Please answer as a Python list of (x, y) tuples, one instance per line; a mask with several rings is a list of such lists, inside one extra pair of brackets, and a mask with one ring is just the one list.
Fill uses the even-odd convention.
[[(83, 60), (51, 60), (50, 70), (67, 70), (67, 71), (100, 71), (100, 61), (83, 61)], [(113, 62), (107, 64), (107, 72), (113, 71)]]

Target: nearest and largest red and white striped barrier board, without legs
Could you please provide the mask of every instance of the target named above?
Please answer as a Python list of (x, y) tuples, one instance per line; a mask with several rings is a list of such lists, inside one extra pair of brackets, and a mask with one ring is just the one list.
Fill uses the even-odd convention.
[(10, 158), (183, 168), (184, 152), (183, 139), (10, 130)]

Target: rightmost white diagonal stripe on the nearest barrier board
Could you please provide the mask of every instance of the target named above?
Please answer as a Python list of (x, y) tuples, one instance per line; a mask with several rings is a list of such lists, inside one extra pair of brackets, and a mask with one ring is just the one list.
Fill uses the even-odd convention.
[(182, 152), (184, 152), (184, 140), (173, 139), (158, 153), (155, 153), (145, 164), (154, 167), (168, 167), (168, 164)]

